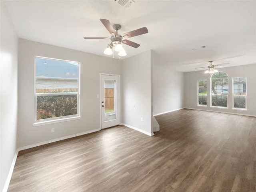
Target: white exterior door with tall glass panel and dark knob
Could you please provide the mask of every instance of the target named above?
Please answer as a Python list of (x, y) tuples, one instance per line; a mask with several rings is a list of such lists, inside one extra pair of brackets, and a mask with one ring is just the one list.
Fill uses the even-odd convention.
[(119, 125), (119, 75), (100, 75), (101, 128)]

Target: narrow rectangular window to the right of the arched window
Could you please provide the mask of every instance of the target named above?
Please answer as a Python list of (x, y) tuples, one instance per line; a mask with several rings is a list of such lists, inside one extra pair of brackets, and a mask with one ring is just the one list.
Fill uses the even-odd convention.
[(246, 109), (246, 77), (233, 78), (233, 108)]

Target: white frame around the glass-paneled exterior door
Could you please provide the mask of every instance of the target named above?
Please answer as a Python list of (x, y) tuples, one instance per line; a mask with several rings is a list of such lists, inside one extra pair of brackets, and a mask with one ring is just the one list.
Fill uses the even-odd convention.
[(100, 130), (102, 130), (102, 101), (101, 101), (101, 98), (102, 98), (102, 84), (101, 84), (101, 81), (102, 81), (102, 75), (108, 75), (108, 76), (118, 76), (118, 95), (119, 95), (119, 98), (116, 98), (116, 102), (118, 103), (118, 108), (116, 108), (116, 110), (118, 110), (118, 122), (119, 122), (119, 125), (120, 125), (120, 122), (121, 122), (121, 110), (120, 110), (120, 104), (121, 104), (121, 99), (120, 99), (120, 88), (121, 88), (121, 78), (120, 78), (120, 75), (119, 74), (111, 74), (111, 73), (100, 73), (100, 100), (99, 100), (99, 106), (100, 106)]

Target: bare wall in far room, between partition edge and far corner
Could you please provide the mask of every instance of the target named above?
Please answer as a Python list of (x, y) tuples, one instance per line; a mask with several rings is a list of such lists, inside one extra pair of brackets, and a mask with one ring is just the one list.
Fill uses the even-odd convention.
[(154, 115), (181, 109), (184, 98), (184, 73), (156, 62), (153, 69)]

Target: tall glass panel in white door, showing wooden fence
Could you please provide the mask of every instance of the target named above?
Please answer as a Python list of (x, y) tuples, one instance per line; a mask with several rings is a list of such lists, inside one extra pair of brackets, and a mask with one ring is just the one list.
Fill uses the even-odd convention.
[(105, 122), (116, 120), (116, 80), (105, 80)]

